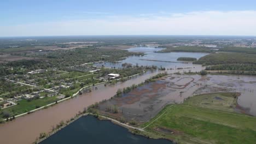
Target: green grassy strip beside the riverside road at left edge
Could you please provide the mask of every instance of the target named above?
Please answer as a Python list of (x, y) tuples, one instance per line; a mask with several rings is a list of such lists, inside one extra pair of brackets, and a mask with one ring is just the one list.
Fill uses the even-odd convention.
[(50, 103), (54, 103), (54, 101), (58, 100), (56, 97), (46, 97), (42, 99), (36, 99), (27, 101), (25, 99), (18, 101), (18, 105), (14, 105), (8, 107), (6, 109), (0, 110), (0, 119), (3, 118), (3, 111), (7, 111), (10, 113), (11, 116), (13, 115), (20, 115), (21, 113), (28, 112), (31, 110), (36, 109), (36, 107), (41, 107)]

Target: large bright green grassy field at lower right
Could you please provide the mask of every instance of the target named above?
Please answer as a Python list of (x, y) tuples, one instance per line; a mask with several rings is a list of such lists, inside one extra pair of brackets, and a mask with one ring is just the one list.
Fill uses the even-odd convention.
[[(209, 97), (231, 98), (231, 94), (210, 94)], [(224, 105), (217, 110), (216, 104), (212, 107), (196, 101), (202, 101), (207, 95), (194, 96), (182, 105), (168, 105), (158, 116), (144, 123), (141, 127), (150, 133), (163, 135), (168, 139), (174, 139), (179, 143), (255, 143), (256, 141), (256, 117), (240, 113), (228, 112)], [(218, 108), (220, 109), (220, 108)], [(174, 133), (157, 131), (164, 128)]]

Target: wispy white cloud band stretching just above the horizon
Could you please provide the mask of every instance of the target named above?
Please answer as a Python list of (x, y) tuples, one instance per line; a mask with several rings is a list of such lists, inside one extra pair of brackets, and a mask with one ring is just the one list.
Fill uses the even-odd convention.
[(256, 11), (192, 11), (190, 13), (106, 15), (100, 19), (67, 20), (0, 26), (0, 36), (14, 35), (256, 35)]

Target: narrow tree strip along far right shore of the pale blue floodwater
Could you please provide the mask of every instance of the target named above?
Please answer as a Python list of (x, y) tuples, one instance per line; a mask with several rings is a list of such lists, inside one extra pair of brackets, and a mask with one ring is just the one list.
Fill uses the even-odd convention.
[(177, 47), (166, 47), (166, 49), (159, 52), (212, 52), (208, 47), (203, 46), (177, 46)]

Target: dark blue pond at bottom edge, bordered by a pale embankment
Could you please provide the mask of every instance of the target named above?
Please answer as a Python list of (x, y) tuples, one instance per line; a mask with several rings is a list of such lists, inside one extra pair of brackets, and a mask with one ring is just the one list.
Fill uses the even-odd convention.
[(172, 143), (164, 139), (148, 139), (133, 135), (126, 128), (110, 121), (101, 121), (93, 116), (83, 116), (69, 124), (44, 143)]

